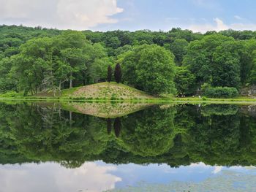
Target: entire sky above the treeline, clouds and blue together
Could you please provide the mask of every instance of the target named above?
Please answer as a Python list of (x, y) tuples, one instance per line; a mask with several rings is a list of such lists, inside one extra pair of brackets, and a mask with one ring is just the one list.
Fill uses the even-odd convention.
[(0, 0), (0, 24), (92, 31), (256, 31), (255, 0)]

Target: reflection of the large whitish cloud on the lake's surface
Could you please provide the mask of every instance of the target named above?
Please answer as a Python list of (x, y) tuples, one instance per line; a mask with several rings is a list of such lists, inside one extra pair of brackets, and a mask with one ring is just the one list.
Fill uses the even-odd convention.
[(116, 166), (93, 162), (76, 169), (54, 163), (0, 166), (0, 191), (107, 191), (121, 181), (108, 173), (115, 170)]

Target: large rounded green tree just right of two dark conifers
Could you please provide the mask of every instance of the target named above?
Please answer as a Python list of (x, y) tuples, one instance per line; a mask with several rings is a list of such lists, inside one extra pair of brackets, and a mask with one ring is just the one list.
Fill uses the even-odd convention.
[(174, 56), (157, 45), (141, 45), (124, 55), (124, 82), (148, 93), (173, 93)]

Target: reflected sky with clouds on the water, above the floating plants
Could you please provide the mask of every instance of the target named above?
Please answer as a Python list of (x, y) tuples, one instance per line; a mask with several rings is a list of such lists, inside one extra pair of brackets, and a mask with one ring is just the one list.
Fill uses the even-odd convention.
[[(102, 161), (86, 162), (76, 169), (69, 169), (56, 163), (45, 164), (15, 164), (0, 166), (0, 191), (27, 192), (27, 191), (107, 191), (119, 188), (119, 190), (131, 190), (129, 188), (141, 188), (150, 185), (151, 188), (170, 184), (177, 187), (183, 185), (199, 185), (209, 183), (221, 184), (219, 177), (230, 173), (232, 185), (242, 185), (235, 176), (249, 177), (255, 180), (255, 166), (208, 166), (203, 163), (191, 164), (170, 168), (166, 164), (149, 164), (147, 166), (137, 164), (105, 164)], [(225, 176), (226, 177), (226, 176)], [(239, 176), (240, 177), (240, 176)], [(255, 180), (256, 181), (256, 180)], [(231, 185), (230, 184), (230, 185)], [(135, 190), (133, 188), (133, 190)]]

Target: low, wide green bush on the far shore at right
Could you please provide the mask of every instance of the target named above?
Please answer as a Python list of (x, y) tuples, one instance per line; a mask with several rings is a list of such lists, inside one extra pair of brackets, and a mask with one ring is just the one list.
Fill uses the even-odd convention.
[(203, 95), (212, 98), (232, 98), (238, 96), (238, 90), (228, 87), (207, 88)]

